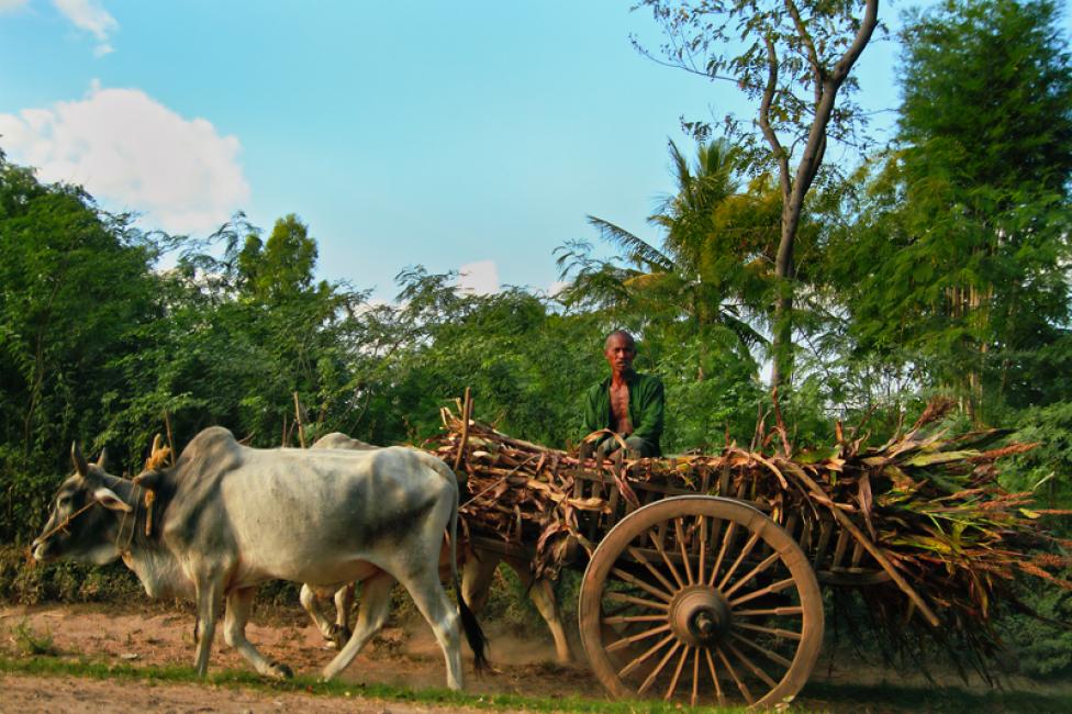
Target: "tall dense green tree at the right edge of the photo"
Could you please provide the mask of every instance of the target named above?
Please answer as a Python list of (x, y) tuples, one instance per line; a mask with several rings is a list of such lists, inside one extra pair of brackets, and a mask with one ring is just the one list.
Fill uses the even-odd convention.
[(895, 145), (830, 252), (859, 344), (927, 365), (976, 421), (987, 402), (1067, 393), (1072, 72), (1057, 26), (1049, 0), (911, 16)]

